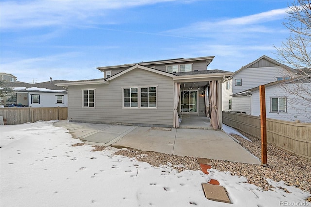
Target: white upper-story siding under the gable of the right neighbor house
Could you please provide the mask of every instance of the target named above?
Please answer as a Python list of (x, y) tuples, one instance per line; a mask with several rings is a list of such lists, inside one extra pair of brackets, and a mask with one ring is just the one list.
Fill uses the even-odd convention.
[[(282, 67), (246, 68), (233, 75), (232, 93), (239, 93), (247, 89), (264, 85), (277, 80), (276, 77), (288, 76)], [(235, 79), (242, 79), (242, 86), (235, 85)]]

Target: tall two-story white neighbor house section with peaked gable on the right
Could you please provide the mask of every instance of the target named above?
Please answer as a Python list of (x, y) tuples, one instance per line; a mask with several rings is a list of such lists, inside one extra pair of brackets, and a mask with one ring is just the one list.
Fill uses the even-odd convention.
[[(247, 89), (270, 82), (289, 79), (294, 73), (294, 69), (268, 56), (261, 56), (223, 81), (223, 111), (241, 111), (251, 114), (251, 96), (235, 98), (239, 96), (239, 92), (245, 92)], [(232, 97), (232, 94), (235, 94), (235, 97)]]

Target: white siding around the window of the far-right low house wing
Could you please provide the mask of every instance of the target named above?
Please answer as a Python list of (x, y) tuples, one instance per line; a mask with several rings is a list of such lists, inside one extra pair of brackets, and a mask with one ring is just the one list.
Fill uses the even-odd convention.
[[(311, 88), (310, 84), (309, 86), (306, 86)], [(311, 116), (311, 108), (310, 103), (308, 104), (306, 101), (301, 99), (300, 105), (295, 105), (294, 109), (290, 106), (290, 101), (293, 98), (297, 98), (297, 96), (289, 95), (287, 94), (284, 89), (282, 89), (281, 86), (271, 86), (265, 88), (265, 94), (266, 94), (266, 117), (271, 119), (279, 119), (284, 121), (295, 121), (300, 120), (301, 122), (311, 122), (311, 120), (308, 120), (305, 115), (303, 115), (305, 112), (302, 112), (305, 108), (309, 112), (309, 117)], [(270, 97), (287, 97), (287, 113), (271, 113), (270, 107), (271, 107), (271, 100)], [(308, 107), (309, 106), (309, 107)], [(260, 115), (260, 93), (259, 90), (253, 93), (252, 97), (252, 115), (259, 116)]]

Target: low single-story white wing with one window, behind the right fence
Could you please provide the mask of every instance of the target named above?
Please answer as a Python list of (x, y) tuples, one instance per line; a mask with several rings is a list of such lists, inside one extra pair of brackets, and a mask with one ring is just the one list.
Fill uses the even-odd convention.
[[(286, 90), (293, 91), (294, 93), (289, 94)], [(311, 94), (311, 83), (302, 83), (300, 81), (293, 83), (292, 80), (281, 80), (265, 84), (266, 117), (285, 121), (300, 120), (301, 122), (311, 122), (310, 100), (308, 101), (295, 95), (299, 91), (308, 96), (308, 93)], [(300, 95), (306, 97), (304, 94)], [(247, 98), (250, 103), (250, 113), (247, 114), (254, 116), (260, 115), (259, 86), (233, 94), (231, 97), (234, 100), (241, 101)], [(242, 112), (246, 112), (246, 110)]]

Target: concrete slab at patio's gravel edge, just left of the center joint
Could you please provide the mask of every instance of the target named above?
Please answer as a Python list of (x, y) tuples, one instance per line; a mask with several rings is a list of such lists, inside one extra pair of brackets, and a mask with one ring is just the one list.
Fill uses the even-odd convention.
[(127, 134), (112, 146), (130, 147), (133, 149), (173, 154), (174, 137)]

